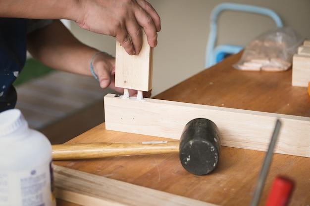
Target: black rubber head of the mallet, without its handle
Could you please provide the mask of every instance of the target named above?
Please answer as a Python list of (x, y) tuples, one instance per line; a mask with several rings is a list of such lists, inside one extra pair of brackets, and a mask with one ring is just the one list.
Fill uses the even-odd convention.
[(210, 173), (218, 164), (220, 138), (217, 126), (205, 118), (191, 120), (180, 139), (180, 161), (190, 173)]

